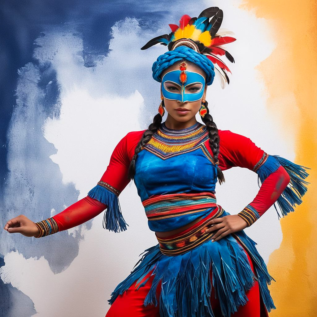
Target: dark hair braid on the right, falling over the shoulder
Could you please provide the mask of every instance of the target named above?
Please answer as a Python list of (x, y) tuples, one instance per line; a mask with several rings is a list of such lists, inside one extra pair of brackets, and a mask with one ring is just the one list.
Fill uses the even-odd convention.
[[(217, 129), (216, 123), (212, 119), (212, 116), (209, 114), (209, 109), (207, 107), (208, 106), (207, 100), (205, 101), (204, 105), (207, 109), (207, 113), (204, 115), (204, 117), (201, 117), (201, 120), (203, 120), (204, 124), (206, 125), (209, 131), (209, 144), (210, 144), (212, 153), (214, 155), (214, 162), (216, 163), (218, 161), (218, 155), (220, 150), (219, 148), (220, 139), (219, 139), (218, 129)], [(216, 164), (216, 167), (217, 167), (217, 176), (218, 176), (219, 184), (222, 184), (225, 181), (223, 172), (218, 166), (218, 164)]]

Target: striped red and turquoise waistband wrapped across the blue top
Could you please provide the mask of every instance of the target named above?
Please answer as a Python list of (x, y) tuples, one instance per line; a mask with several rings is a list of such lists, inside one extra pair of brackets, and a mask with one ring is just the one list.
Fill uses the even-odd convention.
[(210, 192), (159, 195), (142, 202), (148, 220), (161, 220), (188, 215), (217, 207), (216, 196)]

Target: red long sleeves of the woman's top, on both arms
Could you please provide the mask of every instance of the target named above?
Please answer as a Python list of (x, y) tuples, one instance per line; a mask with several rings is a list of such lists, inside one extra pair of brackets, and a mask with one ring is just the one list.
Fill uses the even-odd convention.
[[(120, 195), (121, 191), (129, 183), (128, 168), (142, 134), (145, 130), (127, 133), (117, 144), (110, 158), (109, 165), (100, 181), (107, 184), (108, 189)], [(218, 156), (219, 167), (227, 170), (234, 166), (248, 168), (257, 171), (265, 164), (268, 155), (249, 138), (233, 133), (229, 130), (218, 130), (220, 138), (220, 153)], [(205, 142), (206, 148), (213, 156), (209, 141)], [(251, 225), (261, 217), (266, 210), (281, 196), (290, 182), (290, 176), (283, 166), (275, 168), (275, 171), (262, 182), (262, 185), (252, 202), (242, 211), (241, 217)], [(89, 196), (72, 204), (59, 214), (51, 217), (58, 225), (57, 231), (66, 230), (78, 226), (107, 208), (103, 204)]]

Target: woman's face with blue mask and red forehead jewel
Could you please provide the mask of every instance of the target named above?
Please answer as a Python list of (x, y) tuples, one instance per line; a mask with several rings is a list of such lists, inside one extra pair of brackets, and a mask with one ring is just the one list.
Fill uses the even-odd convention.
[(161, 75), (165, 109), (177, 121), (188, 121), (196, 115), (207, 90), (204, 71), (191, 62), (184, 63), (176, 62)]

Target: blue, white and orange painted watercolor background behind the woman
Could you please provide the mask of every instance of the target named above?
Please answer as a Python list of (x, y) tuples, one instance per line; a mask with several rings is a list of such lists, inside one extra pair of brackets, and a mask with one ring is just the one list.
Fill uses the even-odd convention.
[[(278, 221), (272, 207), (246, 232), (276, 279), (270, 316), (316, 316), (314, 1), (2, 1), (0, 224), (46, 219), (87, 195), (117, 142), (157, 113), (151, 66), (165, 47), (140, 47), (210, 6), (237, 38), (230, 85), (215, 79), (207, 92), (218, 128), (312, 168), (294, 213)], [(234, 214), (255, 197), (257, 175), (235, 168), (225, 178), (217, 202)], [(132, 182), (120, 205), (129, 224), (120, 234), (103, 229), (103, 213), (41, 239), (1, 230), (0, 316), (104, 316), (112, 290), (157, 244)]]

